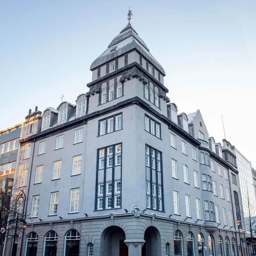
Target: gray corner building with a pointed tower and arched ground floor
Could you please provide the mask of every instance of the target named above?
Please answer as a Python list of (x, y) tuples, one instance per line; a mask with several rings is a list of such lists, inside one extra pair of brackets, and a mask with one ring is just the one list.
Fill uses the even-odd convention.
[(26, 116), (15, 181), (27, 228), (16, 255), (240, 255), (230, 143), (209, 137), (199, 110), (178, 114), (130, 23), (90, 69), (75, 104)]

